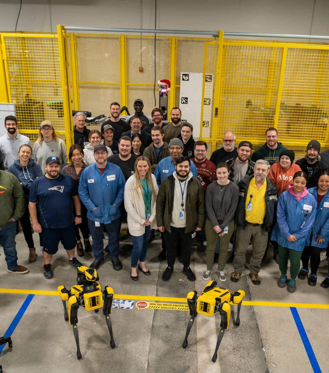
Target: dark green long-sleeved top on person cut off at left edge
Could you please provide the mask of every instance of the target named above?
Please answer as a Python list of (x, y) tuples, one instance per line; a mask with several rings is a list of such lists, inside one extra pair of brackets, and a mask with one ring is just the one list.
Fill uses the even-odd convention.
[(0, 227), (13, 217), (18, 220), (25, 212), (25, 195), (18, 178), (10, 172), (0, 171)]

